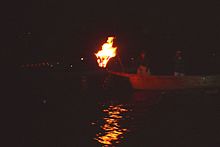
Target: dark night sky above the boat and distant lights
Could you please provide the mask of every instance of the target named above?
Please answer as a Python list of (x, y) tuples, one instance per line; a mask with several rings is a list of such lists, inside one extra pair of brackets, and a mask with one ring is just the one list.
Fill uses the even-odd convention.
[(177, 48), (203, 58), (220, 47), (220, 2), (36, 0), (3, 10), (5, 55), (19, 62), (90, 55), (108, 35), (123, 54), (148, 49), (155, 60)]

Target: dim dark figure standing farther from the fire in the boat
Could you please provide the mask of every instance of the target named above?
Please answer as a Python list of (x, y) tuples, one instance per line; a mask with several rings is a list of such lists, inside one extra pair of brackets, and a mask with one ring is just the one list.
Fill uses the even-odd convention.
[(183, 53), (181, 50), (176, 51), (175, 55), (175, 67), (174, 67), (174, 76), (184, 76), (184, 59), (183, 59)]

